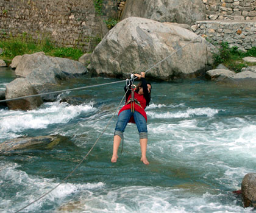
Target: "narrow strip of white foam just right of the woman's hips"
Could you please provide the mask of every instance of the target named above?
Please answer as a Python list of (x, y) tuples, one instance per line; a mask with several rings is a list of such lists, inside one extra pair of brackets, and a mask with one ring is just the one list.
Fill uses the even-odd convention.
[(152, 111), (149, 111), (147, 114), (148, 116), (152, 118), (158, 118), (158, 119), (170, 119), (170, 118), (188, 118), (188, 117), (194, 117), (194, 116), (207, 116), (207, 117), (213, 117), (215, 114), (218, 114), (219, 110), (212, 109), (212, 108), (195, 108), (191, 109), (188, 108), (185, 111), (178, 111), (178, 112), (167, 112), (167, 113), (155, 113)]

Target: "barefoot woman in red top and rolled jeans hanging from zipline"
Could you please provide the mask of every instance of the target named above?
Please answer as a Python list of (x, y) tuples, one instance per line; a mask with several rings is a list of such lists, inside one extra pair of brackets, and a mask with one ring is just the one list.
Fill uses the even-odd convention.
[[(141, 147), (141, 161), (148, 165), (149, 161), (146, 157), (147, 144), (148, 144), (148, 129), (147, 129), (147, 115), (144, 108), (149, 105), (151, 100), (151, 84), (146, 82), (145, 72), (141, 74), (135, 74), (141, 82), (132, 91), (126, 94), (126, 105), (121, 108), (118, 113), (118, 122), (116, 123), (115, 136), (113, 142), (113, 155), (111, 162), (116, 162), (118, 158), (118, 147), (121, 139), (124, 137), (124, 129), (128, 122), (135, 123), (137, 125), (140, 134), (140, 147)], [(124, 88), (126, 92), (128, 88)], [(132, 99), (133, 96), (133, 99)]]

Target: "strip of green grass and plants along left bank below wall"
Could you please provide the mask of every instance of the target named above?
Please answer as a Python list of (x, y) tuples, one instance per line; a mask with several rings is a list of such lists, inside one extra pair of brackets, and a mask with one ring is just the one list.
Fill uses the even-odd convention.
[(12, 60), (16, 55), (33, 54), (41, 51), (46, 55), (73, 60), (78, 60), (84, 54), (80, 49), (55, 47), (48, 38), (36, 44), (26, 33), (20, 37), (10, 36), (10, 38), (1, 40), (0, 47), (3, 49), (3, 53), (0, 55), (3, 60)]

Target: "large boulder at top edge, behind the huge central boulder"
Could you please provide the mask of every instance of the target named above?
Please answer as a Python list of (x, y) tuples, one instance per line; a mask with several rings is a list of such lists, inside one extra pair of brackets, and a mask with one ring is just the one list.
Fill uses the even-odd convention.
[(202, 0), (127, 0), (121, 20), (130, 16), (191, 26), (205, 19), (205, 5)]

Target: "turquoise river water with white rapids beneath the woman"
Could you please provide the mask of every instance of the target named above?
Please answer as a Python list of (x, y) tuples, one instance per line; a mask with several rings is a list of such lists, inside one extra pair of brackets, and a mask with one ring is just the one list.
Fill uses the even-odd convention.
[[(2, 78), (1, 85), (12, 78)], [(68, 86), (113, 81), (85, 77)], [(18, 211), (76, 167), (113, 115), (123, 86), (61, 95), (80, 97), (84, 103), (79, 105), (57, 101), (32, 111), (0, 110), (0, 142), (24, 135), (63, 136), (51, 149), (0, 155), (1, 212)], [(146, 108), (149, 166), (140, 162), (133, 124), (127, 125), (118, 162), (110, 162), (115, 116), (79, 169), (21, 212), (251, 212), (232, 191), (240, 189), (246, 173), (255, 172), (255, 102), (254, 90), (200, 79), (154, 82)]]

